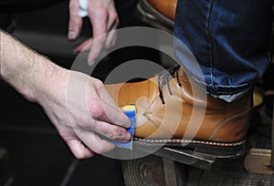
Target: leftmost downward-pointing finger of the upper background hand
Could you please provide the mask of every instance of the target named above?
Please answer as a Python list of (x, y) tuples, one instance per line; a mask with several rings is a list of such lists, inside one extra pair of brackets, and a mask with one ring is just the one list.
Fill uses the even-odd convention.
[(79, 16), (78, 0), (69, 1), (68, 39), (73, 40), (79, 36), (83, 20)]

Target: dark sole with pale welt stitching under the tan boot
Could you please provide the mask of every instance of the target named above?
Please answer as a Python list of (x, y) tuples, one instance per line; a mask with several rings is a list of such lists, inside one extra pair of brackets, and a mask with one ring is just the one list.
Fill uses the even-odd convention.
[(134, 138), (133, 145), (139, 148), (169, 147), (176, 150), (193, 150), (215, 158), (238, 158), (247, 152), (246, 140), (237, 142), (214, 142), (203, 140), (148, 140)]

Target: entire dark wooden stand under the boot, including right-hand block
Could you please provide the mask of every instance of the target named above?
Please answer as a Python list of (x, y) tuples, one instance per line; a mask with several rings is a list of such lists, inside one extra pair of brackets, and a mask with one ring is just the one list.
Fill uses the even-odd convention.
[[(272, 130), (274, 130), (272, 121)], [(274, 150), (272, 131), (272, 150)], [(125, 186), (274, 185), (272, 150), (248, 148), (242, 156), (217, 158), (194, 150), (161, 148), (152, 155), (121, 160)]]

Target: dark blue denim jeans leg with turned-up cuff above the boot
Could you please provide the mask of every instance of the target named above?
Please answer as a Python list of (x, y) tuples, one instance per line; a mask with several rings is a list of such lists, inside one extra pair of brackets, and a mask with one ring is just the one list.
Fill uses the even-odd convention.
[[(178, 0), (175, 56), (207, 93), (231, 102), (261, 78), (269, 66), (272, 0)], [(182, 45), (201, 73), (184, 61)]]

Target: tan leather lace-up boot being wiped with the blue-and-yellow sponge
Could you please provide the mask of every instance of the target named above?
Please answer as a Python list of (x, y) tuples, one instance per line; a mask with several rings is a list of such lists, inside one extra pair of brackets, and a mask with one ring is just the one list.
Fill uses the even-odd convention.
[(136, 106), (135, 140), (144, 145), (242, 149), (252, 92), (227, 103), (205, 95), (182, 67), (172, 67), (169, 72), (142, 82), (105, 86), (120, 107)]

